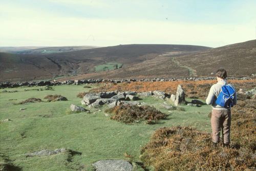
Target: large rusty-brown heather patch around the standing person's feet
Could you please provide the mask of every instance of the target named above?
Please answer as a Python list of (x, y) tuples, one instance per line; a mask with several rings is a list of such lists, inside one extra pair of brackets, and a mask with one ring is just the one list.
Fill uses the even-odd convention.
[(212, 148), (211, 135), (188, 127), (161, 128), (141, 150), (155, 170), (246, 170), (256, 166), (255, 100), (232, 110), (231, 148)]

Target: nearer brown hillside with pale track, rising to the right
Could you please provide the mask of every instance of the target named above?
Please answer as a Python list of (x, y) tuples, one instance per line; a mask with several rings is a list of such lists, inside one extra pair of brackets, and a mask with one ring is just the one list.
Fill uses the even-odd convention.
[(196, 53), (165, 53), (118, 70), (68, 79), (209, 77), (221, 67), (227, 70), (229, 77), (243, 77), (256, 73), (255, 63), (256, 40), (251, 40)]

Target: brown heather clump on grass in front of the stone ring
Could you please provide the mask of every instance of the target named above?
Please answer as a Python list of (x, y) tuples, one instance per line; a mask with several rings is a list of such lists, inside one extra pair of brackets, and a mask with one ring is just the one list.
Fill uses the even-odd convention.
[(166, 118), (166, 114), (151, 106), (120, 105), (107, 109), (113, 115), (111, 119), (121, 121), (125, 124), (146, 121), (146, 124), (155, 124), (159, 119)]

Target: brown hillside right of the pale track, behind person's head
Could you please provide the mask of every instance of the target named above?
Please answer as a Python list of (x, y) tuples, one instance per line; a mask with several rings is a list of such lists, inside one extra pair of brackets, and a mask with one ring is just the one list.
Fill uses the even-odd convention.
[(209, 76), (220, 67), (225, 68), (230, 76), (248, 76), (256, 73), (256, 40), (212, 48), (176, 60), (194, 69), (197, 76)]

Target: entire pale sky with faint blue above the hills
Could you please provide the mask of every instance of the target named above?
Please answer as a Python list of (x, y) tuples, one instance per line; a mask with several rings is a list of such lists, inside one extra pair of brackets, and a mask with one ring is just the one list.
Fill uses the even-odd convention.
[(256, 39), (251, 0), (0, 0), (0, 46), (191, 44)]

